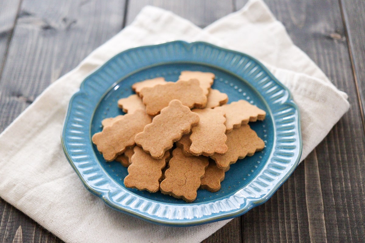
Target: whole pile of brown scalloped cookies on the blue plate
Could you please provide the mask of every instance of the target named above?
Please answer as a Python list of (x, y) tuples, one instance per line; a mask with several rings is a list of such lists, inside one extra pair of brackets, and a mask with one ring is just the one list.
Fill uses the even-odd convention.
[(126, 114), (104, 119), (92, 141), (106, 161), (128, 167), (126, 187), (192, 202), (198, 188), (218, 191), (230, 164), (264, 149), (248, 123), (265, 111), (245, 100), (226, 104), (211, 89), (214, 78), (183, 71), (177, 82), (148, 79), (118, 101)]

